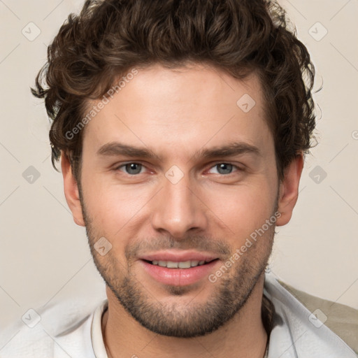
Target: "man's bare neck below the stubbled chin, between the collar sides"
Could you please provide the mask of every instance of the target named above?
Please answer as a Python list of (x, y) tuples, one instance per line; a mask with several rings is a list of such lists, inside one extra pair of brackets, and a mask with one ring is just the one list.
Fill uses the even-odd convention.
[(176, 338), (142, 327), (106, 287), (108, 310), (102, 317), (102, 333), (108, 358), (164, 358), (168, 352), (171, 357), (262, 358), (268, 338), (261, 314), (263, 290), (264, 274), (245, 305), (224, 326), (206, 336)]

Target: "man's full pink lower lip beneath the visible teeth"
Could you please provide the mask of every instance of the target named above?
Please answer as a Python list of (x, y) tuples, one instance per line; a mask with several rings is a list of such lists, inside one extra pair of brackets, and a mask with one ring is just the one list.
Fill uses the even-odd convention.
[(152, 265), (144, 260), (139, 260), (152, 278), (166, 285), (185, 286), (191, 285), (204, 277), (208, 277), (213, 272), (214, 267), (220, 262), (216, 259), (208, 264), (191, 268), (167, 268)]

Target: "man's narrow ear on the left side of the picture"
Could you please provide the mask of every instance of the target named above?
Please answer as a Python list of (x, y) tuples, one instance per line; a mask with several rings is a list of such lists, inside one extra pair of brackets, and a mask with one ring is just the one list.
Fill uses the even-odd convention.
[(61, 169), (62, 176), (64, 177), (64, 196), (66, 196), (67, 205), (72, 212), (74, 222), (79, 226), (84, 227), (85, 220), (83, 220), (77, 182), (72, 174), (69, 157), (64, 152), (61, 152)]

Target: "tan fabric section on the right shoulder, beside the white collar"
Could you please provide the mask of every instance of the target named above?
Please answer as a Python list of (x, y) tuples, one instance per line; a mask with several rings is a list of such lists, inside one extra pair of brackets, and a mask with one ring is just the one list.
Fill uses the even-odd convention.
[(311, 313), (317, 308), (322, 310), (327, 316), (327, 321), (324, 324), (337, 336), (341, 337), (352, 350), (358, 353), (358, 310), (341, 303), (334, 303), (320, 299), (320, 297), (311, 296), (280, 280), (278, 282), (295, 296), (303, 306), (310, 310)]

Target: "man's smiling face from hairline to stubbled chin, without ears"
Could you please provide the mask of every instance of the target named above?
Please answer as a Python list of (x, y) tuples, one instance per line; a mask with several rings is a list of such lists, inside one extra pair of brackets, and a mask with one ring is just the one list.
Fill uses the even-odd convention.
[[(215, 69), (156, 65), (138, 71), (85, 128), (80, 194), (94, 262), (112, 296), (158, 334), (214, 331), (262, 278), (275, 225), (257, 241), (250, 235), (277, 210), (279, 183), (261, 91), (255, 76), (243, 83)], [(244, 94), (256, 102), (251, 109), (236, 103)], [(116, 143), (156, 156), (121, 154)], [(202, 155), (230, 143), (242, 150)], [(111, 245), (103, 256), (94, 250), (102, 237), (103, 252)], [(154, 259), (213, 261), (167, 268)]]

